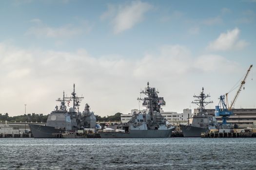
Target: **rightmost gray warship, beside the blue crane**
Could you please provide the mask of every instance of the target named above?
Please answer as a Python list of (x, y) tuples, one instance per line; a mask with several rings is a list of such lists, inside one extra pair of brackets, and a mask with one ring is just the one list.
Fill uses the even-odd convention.
[(208, 132), (209, 129), (215, 129), (217, 125), (217, 120), (215, 117), (208, 115), (208, 113), (203, 112), (204, 107), (213, 103), (212, 101), (205, 102), (206, 98), (209, 98), (210, 95), (205, 95), (203, 92), (204, 88), (202, 87), (202, 91), (199, 96), (194, 95), (194, 98), (197, 100), (192, 103), (197, 104), (199, 106), (198, 113), (194, 113), (191, 118), (188, 120), (187, 125), (180, 124), (180, 128), (182, 130), (184, 137), (200, 137), (201, 133)]

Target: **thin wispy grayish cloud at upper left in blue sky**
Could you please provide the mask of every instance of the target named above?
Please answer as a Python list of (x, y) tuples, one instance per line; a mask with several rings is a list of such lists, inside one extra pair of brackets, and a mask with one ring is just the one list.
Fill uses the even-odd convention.
[(25, 35), (34, 35), (36, 37), (48, 37), (48, 38), (62, 38), (62, 37), (72, 37), (75, 35), (82, 34), (84, 32), (89, 32), (91, 27), (87, 21), (80, 21), (79, 26), (74, 26), (72, 24), (67, 24), (61, 27), (50, 27), (44, 24), (40, 19), (35, 18), (30, 20), (36, 25), (30, 27)]

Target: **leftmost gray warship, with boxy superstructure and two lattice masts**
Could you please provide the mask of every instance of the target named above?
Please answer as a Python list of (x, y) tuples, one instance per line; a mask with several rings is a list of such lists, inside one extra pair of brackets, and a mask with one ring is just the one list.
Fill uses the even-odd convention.
[[(95, 128), (96, 117), (93, 112), (90, 112), (89, 105), (85, 104), (85, 109), (79, 112), (79, 105), (83, 97), (78, 97), (74, 90), (72, 97), (65, 97), (63, 91), (63, 98), (57, 99), (60, 106), (56, 106), (55, 110), (50, 113), (47, 118), (46, 126), (29, 124), (34, 138), (52, 138), (54, 134), (64, 133), (68, 131), (76, 131), (84, 128)], [(67, 105), (73, 102), (73, 107), (67, 110)]]

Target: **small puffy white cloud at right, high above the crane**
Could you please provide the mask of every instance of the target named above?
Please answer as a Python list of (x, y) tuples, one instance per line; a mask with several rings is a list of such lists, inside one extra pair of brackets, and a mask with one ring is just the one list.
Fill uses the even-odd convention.
[(245, 40), (239, 40), (239, 33), (238, 28), (228, 30), (227, 33), (221, 33), (215, 41), (209, 44), (207, 49), (214, 51), (241, 50), (249, 43)]

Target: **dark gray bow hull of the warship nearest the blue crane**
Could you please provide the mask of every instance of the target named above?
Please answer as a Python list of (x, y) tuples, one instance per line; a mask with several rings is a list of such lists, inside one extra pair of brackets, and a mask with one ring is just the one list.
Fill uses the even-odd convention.
[(191, 125), (180, 125), (184, 137), (201, 137), (201, 133), (208, 132), (207, 128), (200, 128)]

